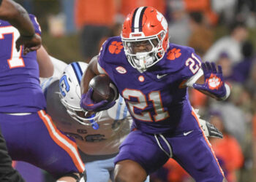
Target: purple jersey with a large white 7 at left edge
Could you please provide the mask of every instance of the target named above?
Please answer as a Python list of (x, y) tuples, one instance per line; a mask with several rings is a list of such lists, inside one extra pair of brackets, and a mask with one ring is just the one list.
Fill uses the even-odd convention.
[[(29, 15), (35, 32), (41, 34), (34, 15)], [(45, 108), (39, 86), (37, 52), (23, 55), (15, 41), (20, 33), (10, 23), (0, 20), (0, 112), (36, 112)]]

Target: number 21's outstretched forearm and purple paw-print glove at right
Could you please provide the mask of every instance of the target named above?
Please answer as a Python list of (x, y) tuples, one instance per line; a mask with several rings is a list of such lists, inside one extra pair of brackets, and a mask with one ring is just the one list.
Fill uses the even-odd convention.
[(225, 100), (230, 95), (230, 87), (224, 82), (222, 67), (216, 68), (215, 63), (202, 63), (202, 69), (185, 83), (217, 100)]

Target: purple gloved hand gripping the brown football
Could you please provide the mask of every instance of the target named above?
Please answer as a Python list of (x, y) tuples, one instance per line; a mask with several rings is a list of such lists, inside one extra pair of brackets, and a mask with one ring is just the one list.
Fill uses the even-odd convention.
[(88, 92), (82, 95), (80, 100), (80, 107), (83, 108), (86, 111), (103, 111), (107, 110), (108, 108), (111, 108), (115, 105), (116, 101), (110, 102), (108, 100), (102, 100), (98, 103), (95, 103), (94, 100), (91, 99), (92, 92), (94, 90), (92, 88), (89, 88)]

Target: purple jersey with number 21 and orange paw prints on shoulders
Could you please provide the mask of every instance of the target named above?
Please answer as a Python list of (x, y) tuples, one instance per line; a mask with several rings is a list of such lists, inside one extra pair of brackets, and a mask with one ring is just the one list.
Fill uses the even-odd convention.
[(191, 47), (170, 44), (162, 60), (140, 73), (127, 61), (117, 36), (103, 44), (98, 62), (126, 100), (138, 130), (162, 133), (193, 127), (187, 122), (195, 120), (187, 88), (181, 87), (201, 66)]

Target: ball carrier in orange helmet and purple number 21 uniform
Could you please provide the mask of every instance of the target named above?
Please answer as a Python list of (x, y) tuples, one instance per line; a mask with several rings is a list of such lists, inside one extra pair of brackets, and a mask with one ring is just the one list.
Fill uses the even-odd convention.
[[(153, 7), (138, 7), (124, 20), (121, 36), (110, 37), (81, 81), (80, 106), (101, 111), (90, 80), (108, 74), (132, 115), (132, 132), (115, 159), (116, 181), (144, 181), (173, 157), (195, 181), (225, 181), (224, 173), (189, 103), (187, 87), (217, 100), (230, 95), (222, 68), (202, 63), (191, 47), (168, 41), (167, 21)], [(114, 102), (114, 101), (113, 101)]]

